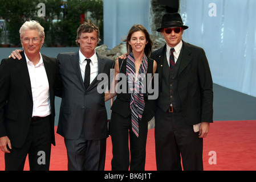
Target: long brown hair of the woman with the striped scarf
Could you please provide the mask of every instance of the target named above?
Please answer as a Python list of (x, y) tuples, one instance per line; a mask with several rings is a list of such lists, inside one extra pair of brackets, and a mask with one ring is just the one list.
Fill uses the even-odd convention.
[(152, 46), (153, 46), (153, 43), (152, 43), (152, 40), (150, 38), (150, 35), (147, 31), (147, 29), (145, 27), (143, 27), (141, 24), (135, 24), (132, 26), (132, 28), (129, 30), (129, 33), (127, 35), (127, 38), (125, 40), (123, 40), (124, 42), (126, 42), (126, 46), (127, 46), (127, 52), (128, 53), (131, 53), (132, 52), (132, 46), (128, 43), (128, 41), (131, 40), (131, 36), (134, 32), (137, 32), (137, 31), (141, 31), (145, 34), (145, 38), (147, 40), (147, 44), (144, 48), (144, 52), (145, 52), (145, 55), (147, 57), (149, 57), (151, 55), (151, 52), (152, 52)]

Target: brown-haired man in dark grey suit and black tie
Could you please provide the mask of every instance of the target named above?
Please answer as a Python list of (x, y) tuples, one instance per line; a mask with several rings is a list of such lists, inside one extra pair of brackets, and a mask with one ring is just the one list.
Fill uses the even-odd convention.
[(57, 57), (63, 84), (57, 133), (64, 137), (68, 170), (101, 171), (105, 166), (108, 118), (97, 76), (109, 78), (115, 61), (95, 51), (99, 40), (99, 28), (88, 20), (78, 28), (79, 51)]

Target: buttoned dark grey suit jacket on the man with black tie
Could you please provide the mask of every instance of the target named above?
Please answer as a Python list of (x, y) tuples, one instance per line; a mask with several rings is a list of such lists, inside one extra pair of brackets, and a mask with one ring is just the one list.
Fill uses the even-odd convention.
[[(96, 55), (98, 75), (105, 73), (109, 78), (115, 61), (97, 53)], [(63, 85), (57, 133), (66, 139), (78, 139), (83, 129), (87, 140), (107, 138), (105, 94), (97, 92), (97, 85), (101, 80), (96, 77), (86, 90), (80, 72), (79, 52), (60, 53), (57, 60)]]

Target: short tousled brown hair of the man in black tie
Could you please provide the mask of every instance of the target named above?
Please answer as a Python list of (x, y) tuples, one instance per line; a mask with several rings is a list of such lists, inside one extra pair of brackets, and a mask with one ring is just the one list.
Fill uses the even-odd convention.
[(79, 28), (78, 28), (78, 32), (76, 34), (76, 45), (80, 46), (80, 43), (78, 43), (78, 39), (80, 39), (80, 36), (82, 33), (85, 32), (93, 32), (96, 31), (97, 33), (97, 43), (100, 42), (100, 30), (98, 27), (95, 26), (94, 23), (91, 22), (91, 20), (88, 20), (87, 22), (84, 22), (83, 24), (80, 24)]

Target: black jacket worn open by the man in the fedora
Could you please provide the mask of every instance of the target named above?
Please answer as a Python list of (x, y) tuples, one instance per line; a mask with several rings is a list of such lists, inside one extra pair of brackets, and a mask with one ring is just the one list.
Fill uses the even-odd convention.
[(158, 106), (167, 111), (170, 105), (170, 79), (177, 79), (178, 96), (184, 119), (189, 125), (200, 122), (213, 122), (213, 81), (204, 49), (182, 40), (178, 59), (180, 65), (177, 75), (170, 77), (166, 60), (166, 45), (152, 53), (157, 61), (159, 73)]

